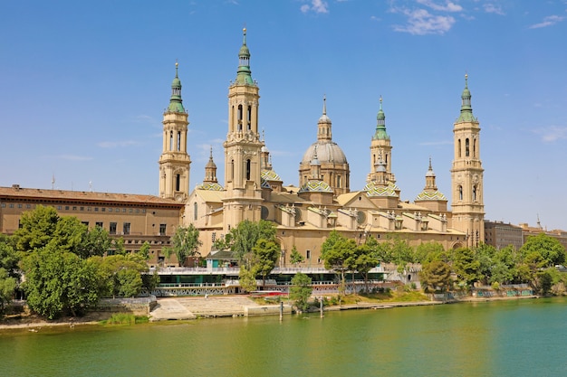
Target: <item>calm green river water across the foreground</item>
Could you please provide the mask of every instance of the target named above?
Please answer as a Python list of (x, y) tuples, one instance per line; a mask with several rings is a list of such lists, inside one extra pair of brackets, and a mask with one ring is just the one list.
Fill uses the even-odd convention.
[(567, 298), (0, 331), (1, 376), (565, 376)]

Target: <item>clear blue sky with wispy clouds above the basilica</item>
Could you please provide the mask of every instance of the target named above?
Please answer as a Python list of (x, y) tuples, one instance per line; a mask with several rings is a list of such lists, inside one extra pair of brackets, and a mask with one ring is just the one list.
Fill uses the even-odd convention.
[[(380, 95), (402, 200), (428, 158), (450, 196), (464, 76), (480, 121), (486, 218), (567, 230), (567, 1), (5, 1), (0, 185), (158, 193), (175, 61), (191, 187), (213, 147), (222, 181), (227, 89), (246, 26), (260, 127), (297, 184), (322, 97), (351, 165), (370, 171)], [(91, 183), (91, 184), (90, 184)], [(221, 182), (223, 184), (223, 182)]]

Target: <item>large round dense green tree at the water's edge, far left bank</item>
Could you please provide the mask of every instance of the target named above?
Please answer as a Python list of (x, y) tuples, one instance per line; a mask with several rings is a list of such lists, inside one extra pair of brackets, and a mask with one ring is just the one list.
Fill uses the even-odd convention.
[(48, 245), (25, 256), (22, 267), (27, 304), (41, 316), (78, 316), (98, 302), (97, 270), (72, 252)]

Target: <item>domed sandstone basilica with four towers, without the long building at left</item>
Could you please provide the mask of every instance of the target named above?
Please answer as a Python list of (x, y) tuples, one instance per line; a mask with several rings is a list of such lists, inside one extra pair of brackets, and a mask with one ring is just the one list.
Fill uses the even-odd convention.
[(467, 77), (460, 115), (453, 126), (455, 157), (449, 211), (447, 196), (437, 190), (431, 161), (423, 191), (413, 203), (400, 201), (381, 99), (376, 129), (369, 132), (370, 171), (362, 190), (350, 190), (349, 163), (341, 146), (332, 140), (332, 121), (324, 98), (317, 139), (306, 146), (298, 166), (298, 184), (284, 184), (259, 133), (259, 87), (252, 76), (250, 57), (244, 30), (236, 77), (228, 88), (225, 176), (220, 183), (211, 152), (205, 172), (193, 172), (193, 177), (204, 173), (202, 182), (189, 191), (189, 122), (177, 65), (171, 99), (163, 115), (159, 195), (185, 203), (181, 222), (193, 224), (200, 231), (203, 256), (214, 252), (214, 241), (240, 221), (260, 219), (273, 221), (277, 228), (282, 248), (280, 267), (289, 264), (293, 248), (303, 254), (305, 267), (322, 267), (321, 245), (333, 230), (357, 243), (370, 235), (378, 240), (395, 236), (412, 246), (437, 241), (446, 249), (474, 246), (484, 240), (480, 127), (473, 115)]

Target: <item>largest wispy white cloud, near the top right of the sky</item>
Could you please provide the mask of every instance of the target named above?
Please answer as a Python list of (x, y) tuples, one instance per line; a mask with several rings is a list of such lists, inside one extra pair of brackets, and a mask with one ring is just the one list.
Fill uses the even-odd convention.
[(450, 15), (430, 14), (425, 9), (401, 10), (402, 14), (408, 16), (407, 25), (395, 25), (396, 32), (404, 32), (415, 35), (444, 34), (455, 24), (455, 18)]

